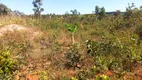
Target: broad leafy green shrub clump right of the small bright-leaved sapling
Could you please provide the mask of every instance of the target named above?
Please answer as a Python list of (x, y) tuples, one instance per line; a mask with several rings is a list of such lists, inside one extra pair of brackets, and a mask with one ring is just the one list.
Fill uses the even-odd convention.
[(127, 39), (126, 42), (115, 36), (103, 42), (87, 41), (88, 54), (92, 56), (98, 73), (105, 70), (116, 73), (131, 71), (132, 65), (140, 60), (138, 36), (124, 38)]

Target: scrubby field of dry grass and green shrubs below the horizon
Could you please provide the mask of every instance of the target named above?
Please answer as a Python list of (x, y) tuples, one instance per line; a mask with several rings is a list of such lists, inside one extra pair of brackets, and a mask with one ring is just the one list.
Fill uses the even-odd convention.
[(2, 80), (142, 79), (141, 9), (101, 19), (95, 14), (0, 16), (1, 28), (9, 24), (26, 30), (0, 36)]

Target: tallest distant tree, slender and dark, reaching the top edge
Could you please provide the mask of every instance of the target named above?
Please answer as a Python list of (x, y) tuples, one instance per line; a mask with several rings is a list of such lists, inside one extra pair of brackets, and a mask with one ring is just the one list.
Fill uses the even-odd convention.
[(44, 9), (41, 8), (41, 6), (42, 6), (42, 0), (34, 0), (33, 1), (33, 6), (34, 6), (34, 9), (33, 9), (34, 15), (36, 17), (40, 17), (41, 12), (44, 11)]

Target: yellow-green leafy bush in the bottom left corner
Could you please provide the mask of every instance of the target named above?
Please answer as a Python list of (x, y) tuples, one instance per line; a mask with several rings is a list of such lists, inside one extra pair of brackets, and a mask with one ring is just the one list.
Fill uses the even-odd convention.
[(17, 60), (12, 57), (9, 50), (0, 51), (0, 79), (10, 79), (10, 76), (17, 70)]

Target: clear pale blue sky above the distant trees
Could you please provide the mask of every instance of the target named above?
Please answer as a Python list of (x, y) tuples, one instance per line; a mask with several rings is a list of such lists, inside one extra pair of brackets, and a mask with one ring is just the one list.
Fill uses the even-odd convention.
[[(11, 10), (19, 10), (25, 14), (33, 14), (33, 0), (0, 0)], [(142, 5), (142, 0), (42, 0), (43, 14), (65, 14), (77, 9), (81, 14), (89, 14), (95, 10), (95, 6), (105, 7), (109, 11), (125, 11), (128, 3), (135, 3), (136, 7)]]

